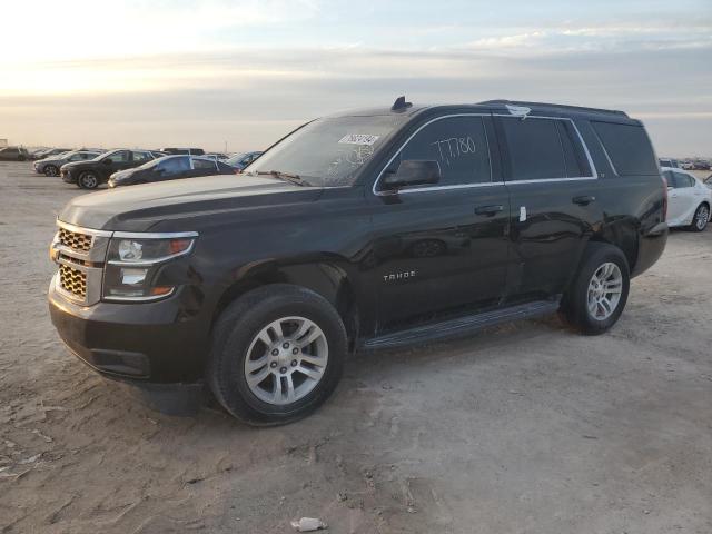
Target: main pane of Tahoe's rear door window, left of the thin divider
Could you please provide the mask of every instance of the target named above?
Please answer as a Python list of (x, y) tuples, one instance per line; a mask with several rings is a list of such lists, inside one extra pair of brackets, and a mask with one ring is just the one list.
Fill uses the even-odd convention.
[(567, 177), (556, 122), (558, 121), (551, 119), (502, 118), (502, 130), (510, 154), (510, 180)]

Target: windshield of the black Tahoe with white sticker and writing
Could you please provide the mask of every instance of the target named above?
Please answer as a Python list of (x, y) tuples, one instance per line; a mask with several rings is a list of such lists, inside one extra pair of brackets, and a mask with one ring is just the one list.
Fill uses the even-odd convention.
[(362, 166), (405, 120), (394, 116), (317, 119), (279, 141), (245, 172), (279, 171), (312, 186), (350, 186)]

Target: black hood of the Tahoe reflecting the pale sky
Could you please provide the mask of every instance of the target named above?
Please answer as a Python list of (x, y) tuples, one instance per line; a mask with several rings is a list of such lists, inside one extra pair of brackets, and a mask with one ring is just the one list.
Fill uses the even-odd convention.
[(266, 177), (208, 176), (81, 195), (59, 219), (99, 230), (149, 231), (160, 224), (161, 231), (189, 231), (198, 217), (310, 202), (322, 191)]

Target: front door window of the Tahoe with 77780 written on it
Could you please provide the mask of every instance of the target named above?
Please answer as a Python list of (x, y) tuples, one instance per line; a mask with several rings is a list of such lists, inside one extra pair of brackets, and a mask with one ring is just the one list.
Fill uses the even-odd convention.
[(400, 161), (411, 159), (437, 161), (442, 186), (491, 181), (482, 117), (448, 117), (431, 122), (400, 151)]

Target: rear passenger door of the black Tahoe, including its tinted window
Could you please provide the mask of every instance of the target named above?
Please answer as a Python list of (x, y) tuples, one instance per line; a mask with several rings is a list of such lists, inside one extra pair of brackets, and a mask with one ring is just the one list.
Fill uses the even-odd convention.
[(495, 117), (511, 195), (507, 297), (560, 294), (602, 218), (593, 162), (570, 119)]

